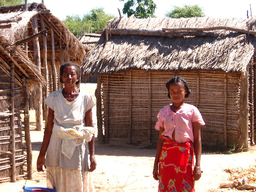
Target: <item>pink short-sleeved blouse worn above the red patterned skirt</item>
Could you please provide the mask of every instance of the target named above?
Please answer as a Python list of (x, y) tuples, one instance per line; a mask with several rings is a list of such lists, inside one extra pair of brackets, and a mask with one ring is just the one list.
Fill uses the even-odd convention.
[(161, 109), (157, 115), (158, 121), (155, 129), (159, 130), (160, 127), (164, 128), (164, 136), (172, 140), (172, 133), (175, 130), (175, 140), (177, 143), (186, 143), (190, 140), (194, 142), (192, 122), (199, 122), (205, 125), (201, 113), (194, 105), (184, 103), (184, 105), (174, 113), (170, 105), (166, 105)]

